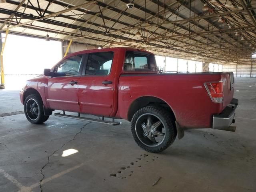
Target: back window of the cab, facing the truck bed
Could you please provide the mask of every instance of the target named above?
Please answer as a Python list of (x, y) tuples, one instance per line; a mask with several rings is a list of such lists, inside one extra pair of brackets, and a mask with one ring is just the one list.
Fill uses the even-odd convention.
[(157, 71), (155, 57), (153, 54), (126, 51), (124, 71)]

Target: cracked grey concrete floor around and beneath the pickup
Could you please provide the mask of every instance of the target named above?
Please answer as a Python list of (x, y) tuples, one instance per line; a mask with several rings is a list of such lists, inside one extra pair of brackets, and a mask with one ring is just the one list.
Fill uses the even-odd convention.
[[(186, 130), (159, 154), (141, 150), (125, 121), (1, 117), (0, 192), (255, 192), (256, 78), (236, 78), (236, 90), (236, 132)], [(0, 99), (0, 114), (22, 110), (18, 91), (0, 90)], [(68, 149), (78, 152), (62, 157)]]

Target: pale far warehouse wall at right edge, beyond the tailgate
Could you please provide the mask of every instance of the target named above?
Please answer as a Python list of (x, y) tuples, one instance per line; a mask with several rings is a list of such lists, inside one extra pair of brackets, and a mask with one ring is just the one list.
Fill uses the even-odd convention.
[(223, 65), (222, 71), (232, 71), (235, 77), (256, 77), (256, 64)]

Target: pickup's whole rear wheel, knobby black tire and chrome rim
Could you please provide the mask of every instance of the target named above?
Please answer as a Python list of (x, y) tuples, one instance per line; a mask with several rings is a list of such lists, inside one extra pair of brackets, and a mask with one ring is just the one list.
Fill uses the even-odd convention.
[(152, 153), (168, 148), (177, 135), (172, 115), (160, 106), (139, 109), (132, 117), (131, 130), (138, 146)]

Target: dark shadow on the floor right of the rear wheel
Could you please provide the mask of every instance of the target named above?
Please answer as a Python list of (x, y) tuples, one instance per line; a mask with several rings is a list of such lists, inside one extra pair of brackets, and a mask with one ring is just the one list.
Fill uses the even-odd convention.
[(245, 138), (206, 129), (186, 130), (184, 138), (176, 140), (161, 155), (204, 163), (256, 160), (253, 146)]

